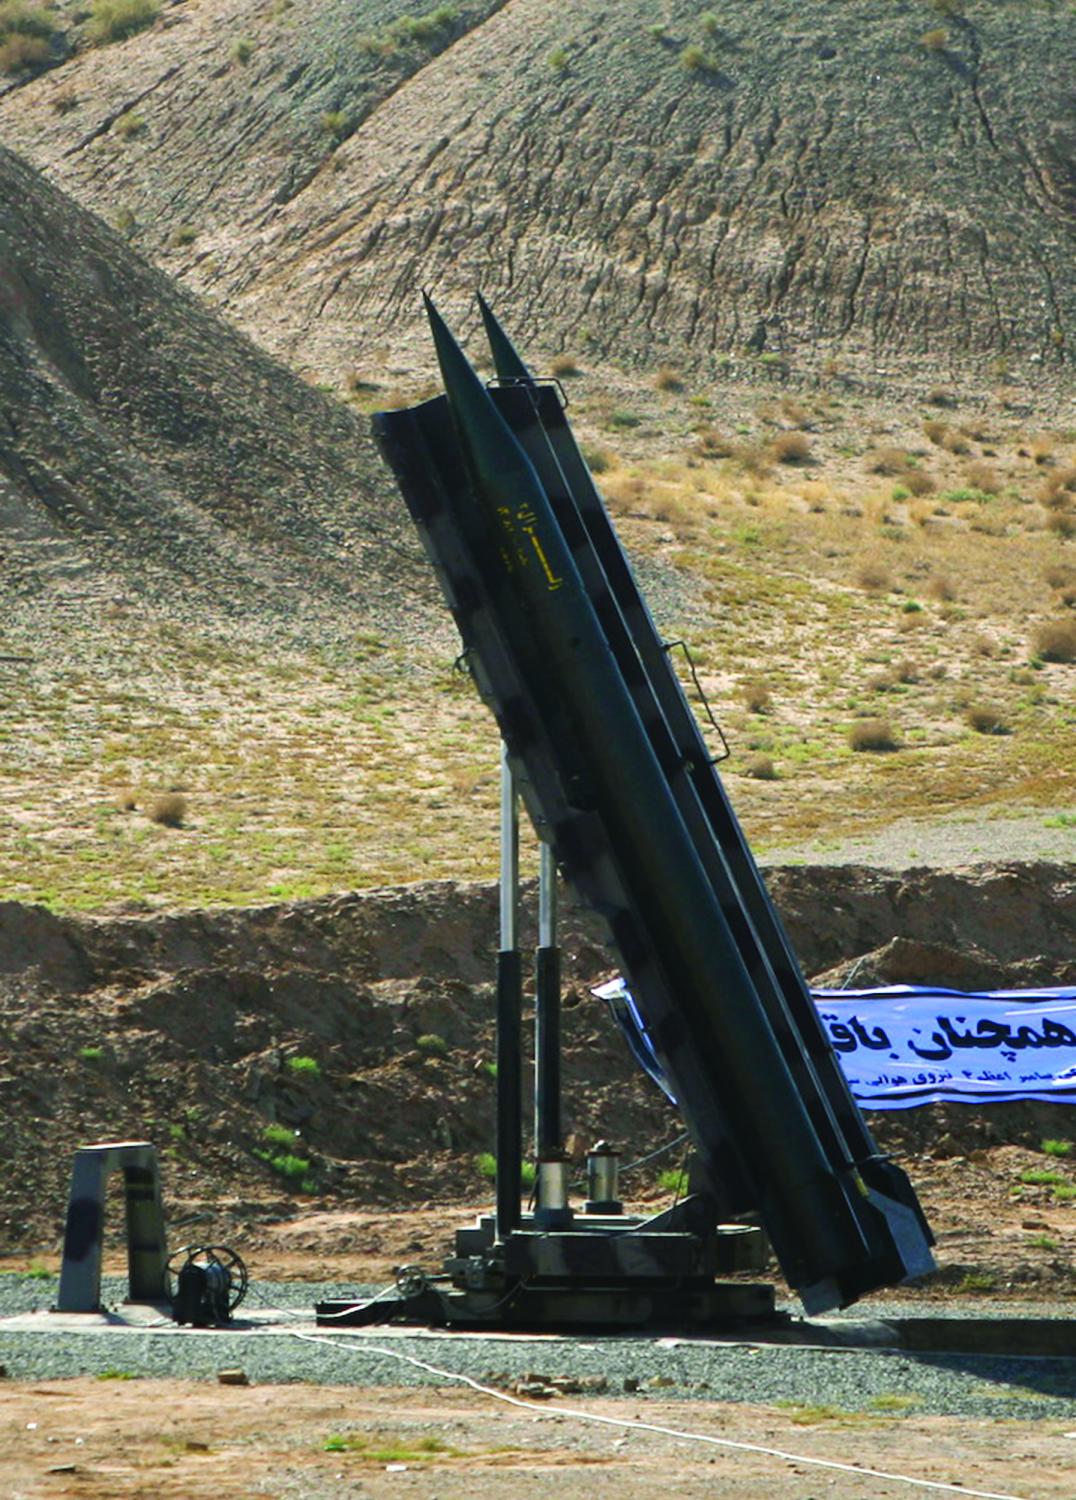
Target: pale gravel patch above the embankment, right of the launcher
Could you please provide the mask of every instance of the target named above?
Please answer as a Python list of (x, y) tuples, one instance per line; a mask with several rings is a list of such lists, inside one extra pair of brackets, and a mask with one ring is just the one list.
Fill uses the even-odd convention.
[(956, 813), (929, 822), (900, 819), (861, 838), (767, 848), (761, 862), (951, 870), (996, 860), (1076, 860), (1076, 813), (1043, 807), (1019, 818)]

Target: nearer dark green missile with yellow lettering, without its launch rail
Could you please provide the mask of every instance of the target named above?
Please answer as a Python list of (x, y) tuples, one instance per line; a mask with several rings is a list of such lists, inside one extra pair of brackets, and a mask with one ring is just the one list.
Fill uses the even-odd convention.
[[(870, 1258), (855, 1202), (869, 1188), (825, 1156), (533, 464), (431, 302), (426, 310), (470, 478), (458, 524), (485, 538), (506, 640), (543, 678), (584, 764), (627, 894), (608, 914), (611, 934), (684, 1119), (713, 1180), (732, 1167), (752, 1184), (804, 1304), (834, 1305)], [(557, 828), (552, 843), (570, 862)], [(891, 1264), (905, 1274), (899, 1254)]]

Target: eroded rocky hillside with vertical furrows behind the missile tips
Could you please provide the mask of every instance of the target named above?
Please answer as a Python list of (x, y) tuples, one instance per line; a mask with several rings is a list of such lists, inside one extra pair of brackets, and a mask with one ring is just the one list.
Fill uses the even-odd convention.
[(1035, 372), (1076, 339), (1062, 0), (186, 0), (5, 138), (321, 378), (416, 291), (531, 346), (713, 370)]

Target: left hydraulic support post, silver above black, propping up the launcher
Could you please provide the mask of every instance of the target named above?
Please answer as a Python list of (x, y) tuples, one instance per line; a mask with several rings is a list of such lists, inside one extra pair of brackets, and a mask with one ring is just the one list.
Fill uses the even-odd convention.
[(522, 1172), (522, 963), (519, 956), (519, 804), (501, 744), (501, 938), (497, 954), (497, 1238), (519, 1227)]

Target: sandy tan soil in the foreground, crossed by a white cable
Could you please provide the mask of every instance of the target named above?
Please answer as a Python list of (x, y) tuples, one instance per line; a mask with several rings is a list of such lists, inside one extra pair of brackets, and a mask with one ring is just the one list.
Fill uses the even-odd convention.
[[(603, 1418), (630, 1400), (581, 1402)], [(30, 1497), (485, 1496), (758, 1497), (929, 1494), (878, 1473), (965, 1492), (1070, 1500), (1076, 1434), (1058, 1424), (915, 1419), (879, 1413), (804, 1426), (771, 1407), (645, 1404), (645, 1420), (795, 1458), (590, 1425), (467, 1390), (225, 1388), (138, 1380), (0, 1388), (0, 1472)], [(332, 1442), (332, 1448), (326, 1444)], [(875, 1476), (816, 1467), (861, 1466)]]

